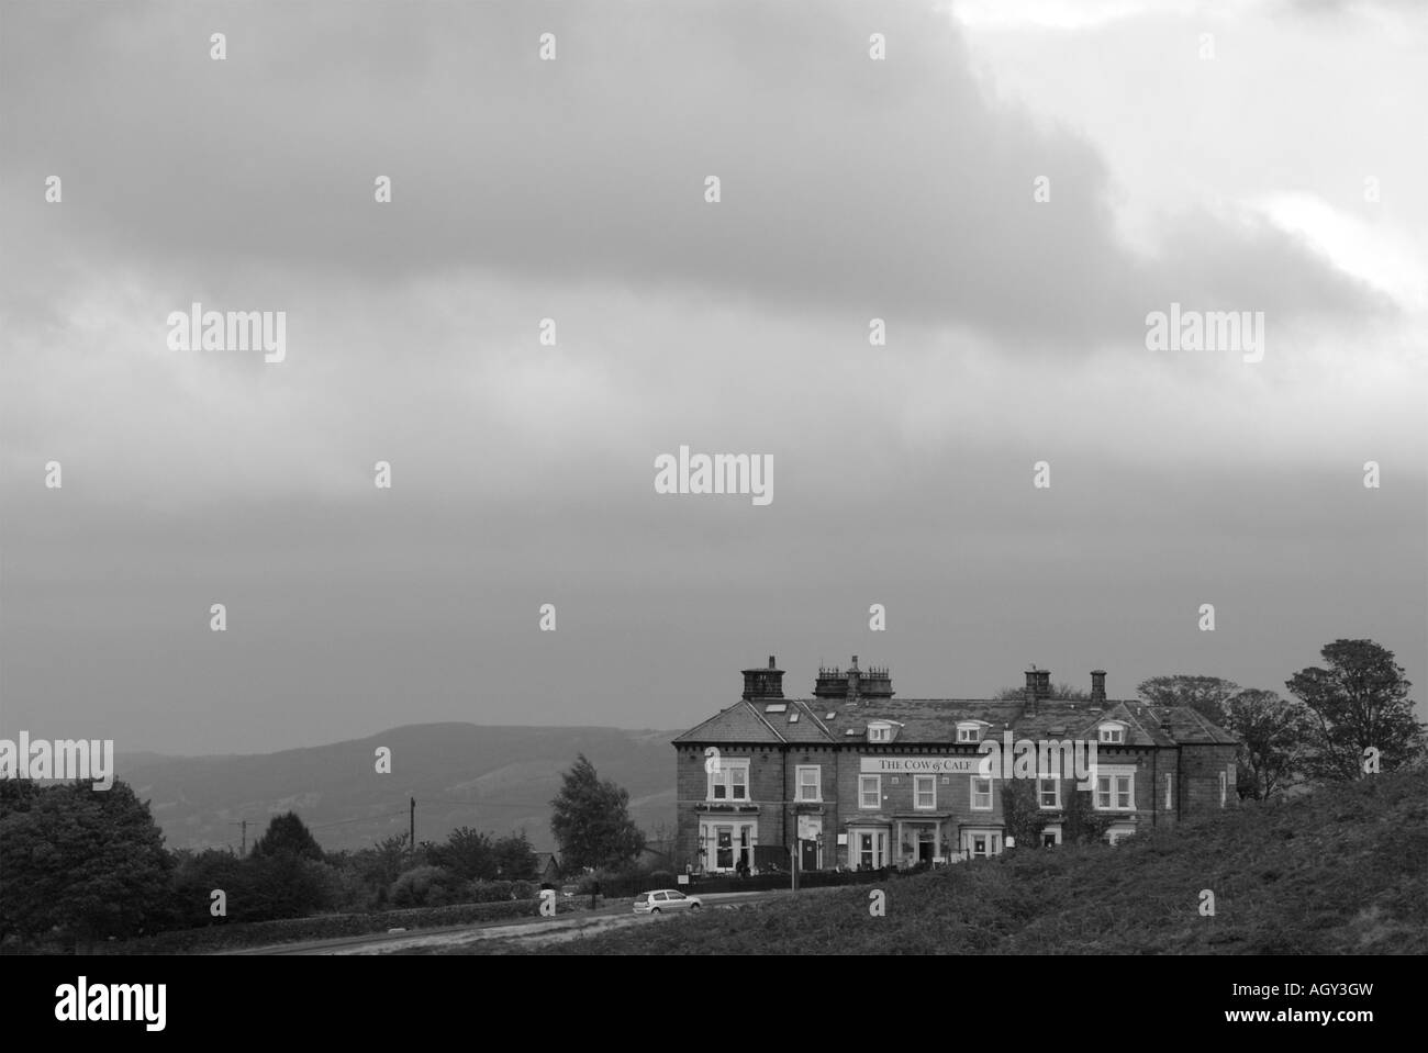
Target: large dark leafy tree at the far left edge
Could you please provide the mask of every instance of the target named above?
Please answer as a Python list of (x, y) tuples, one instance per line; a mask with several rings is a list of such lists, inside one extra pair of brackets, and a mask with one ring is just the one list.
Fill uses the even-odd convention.
[(134, 936), (161, 925), (173, 860), (126, 782), (37, 788), (0, 780), (0, 936)]

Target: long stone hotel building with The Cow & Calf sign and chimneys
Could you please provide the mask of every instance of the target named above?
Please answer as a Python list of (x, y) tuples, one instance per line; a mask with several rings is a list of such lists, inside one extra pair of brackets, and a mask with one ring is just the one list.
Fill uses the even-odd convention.
[[(885, 668), (820, 669), (787, 699), (783, 669), (744, 671), (744, 695), (674, 739), (677, 859), (695, 870), (883, 868), (994, 856), (1005, 848), (1001, 778), (978, 775), (984, 739), (1097, 743), (1091, 803), (1108, 838), (1232, 805), (1237, 739), (1188, 708), (1051, 698), (1028, 669), (1014, 701), (894, 699)], [(717, 762), (715, 762), (717, 760)], [(1038, 772), (1042, 769), (1038, 769)], [(1038, 778), (1042, 843), (1061, 840), (1071, 772)]]

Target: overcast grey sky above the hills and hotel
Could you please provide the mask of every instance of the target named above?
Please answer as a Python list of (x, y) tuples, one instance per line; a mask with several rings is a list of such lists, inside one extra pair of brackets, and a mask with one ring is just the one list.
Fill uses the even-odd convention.
[[(0, 735), (684, 729), (770, 655), (1282, 692), (1338, 638), (1421, 699), (1425, 49), (1407, 3), (7, 3)], [(194, 302), (283, 361), (174, 350)], [(1152, 350), (1172, 304), (1262, 358)], [(657, 492), (680, 447), (773, 501)]]

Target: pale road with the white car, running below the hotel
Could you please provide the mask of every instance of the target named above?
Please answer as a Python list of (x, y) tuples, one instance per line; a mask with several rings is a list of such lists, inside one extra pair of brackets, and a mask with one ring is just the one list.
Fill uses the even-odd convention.
[[(815, 895), (828, 889), (788, 889), (774, 892), (725, 892), (700, 896), (705, 910), (731, 909), (748, 903), (764, 903), (793, 895)], [(620, 899), (597, 910), (575, 910), (558, 917), (523, 917), (514, 922), (480, 922), (440, 929), (411, 929), (408, 932), (368, 933), (334, 940), (306, 940), (271, 947), (247, 947), (224, 952), (228, 955), (388, 955), (411, 950), (448, 950), (477, 940), (528, 939), (534, 943), (578, 939), (628, 925), (658, 925), (664, 917), (637, 915), (630, 909), (633, 896)], [(673, 917), (673, 915), (671, 915)]]

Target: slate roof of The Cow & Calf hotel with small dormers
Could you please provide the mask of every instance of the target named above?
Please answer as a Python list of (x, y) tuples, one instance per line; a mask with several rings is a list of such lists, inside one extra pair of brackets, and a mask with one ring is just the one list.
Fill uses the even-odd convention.
[[(770, 706), (774, 711), (770, 712)], [(780, 709), (781, 706), (781, 709)], [(1034, 713), (1025, 702), (992, 699), (900, 698), (740, 701), (674, 739), (678, 745), (704, 743), (867, 743), (868, 723), (892, 725), (892, 745), (957, 745), (957, 725), (982, 721), (984, 738), (1010, 731), (1018, 739), (1094, 739), (1107, 721), (1125, 725), (1127, 746), (1234, 745), (1235, 736), (1188, 706), (1152, 706), (1145, 702), (1107, 701), (1100, 712), (1088, 702), (1041, 699)], [(791, 718), (797, 715), (798, 719)], [(831, 716), (830, 716), (831, 715)], [(848, 735), (848, 729), (855, 733)], [(883, 745), (883, 743), (878, 743)], [(965, 743), (962, 743), (965, 745)]]

